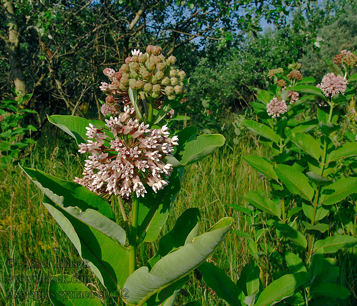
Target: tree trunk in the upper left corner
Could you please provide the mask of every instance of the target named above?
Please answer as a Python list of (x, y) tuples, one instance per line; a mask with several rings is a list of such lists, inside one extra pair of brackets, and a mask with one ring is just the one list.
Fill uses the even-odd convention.
[[(16, 90), (19, 92), (19, 96), (23, 96), (26, 94), (26, 83), (20, 57), (21, 27), (19, 25), (22, 18), (16, 16), (11, 0), (4, 2), (4, 10), (9, 22), (9, 39), (7, 43), (9, 48), (11, 78)], [(27, 106), (27, 103), (28, 101), (24, 101), (25, 106)]]

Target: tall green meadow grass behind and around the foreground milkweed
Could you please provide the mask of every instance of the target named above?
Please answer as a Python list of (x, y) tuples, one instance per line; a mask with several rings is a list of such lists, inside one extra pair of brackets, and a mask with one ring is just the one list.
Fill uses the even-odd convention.
[[(84, 157), (79, 155), (74, 142), (61, 131), (55, 137), (43, 137), (33, 148), (27, 166), (37, 168), (60, 179), (72, 181), (74, 176), (80, 176)], [(50, 134), (49, 134), (50, 135)], [(257, 171), (251, 169), (242, 160), (244, 155), (266, 156), (266, 149), (259, 144), (254, 136), (243, 133), (238, 145), (226, 144), (212, 156), (186, 167), (183, 176), (182, 189), (176, 198), (168, 220), (161, 235), (173, 227), (175, 220), (186, 209), (196, 207), (201, 213), (200, 232), (208, 230), (215, 222), (225, 216), (234, 218), (233, 230), (248, 231), (249, 225), (245, 216), (230, 207), (231, 203), (245, 206), (243, 194), (249, 190), (265, 190), (267, 184)], [(63, 145), (65, 144), (65, 146)], [(1, 212), (0, 212), (0, 304), (10, 305), (51, 305), (47, 298), (18, 298), (16, 292), (39, 291), (45, 294), (46, 283), (11, 283), (8, 276), (35, 275), (38, 278), (59, 273), (72, 274), (77, 277), (89, 277), (88, 286), (92, 290), (103, 290), (97, 278), (88, 268), (59, 268), (57, 259), (68, 258), (70, 261), (80, 261), (77, 250), (60, 226), (50, 216), (41, 204), (41, 192), (30, 182), (30, 179), (17, 166), (9, 166), (0, 170)], [(153, 256), (157, 250), (156, 243), (143, 243), (140, 246), (137, 259), (141, 264)], [(269, 254), (262, 259), (262, 279), (266, 284), (271, 280)], [(8, 258), (13, 258), (15, 266), (5, 265)], [(45, 268), (28, 268), (18, 263), (52, 258), (53, 262)], [(338, 256), (341, 271), (346, 272), (340, 278), (340, 284), (352, 291), (348, 300), (341, 305), (355, 305), (356, 260), (355, 248), (340, 252)], [(223, 243), (208, 259), (222, 268), (234, 282), (237, 281), (243, 266), (248, 263), (247, 239), (228, 233)], [(47, 264), (45, 264), (47, 265)], [(177, 297), (177, 305), (197, 300), (202, 306), (226, 305), (218, 299), (215, 292), (206, 288), (205, 284), (191, 273), (189, 282)], [(103, 300), (106, 305), (118, 305), (112, 299)]]

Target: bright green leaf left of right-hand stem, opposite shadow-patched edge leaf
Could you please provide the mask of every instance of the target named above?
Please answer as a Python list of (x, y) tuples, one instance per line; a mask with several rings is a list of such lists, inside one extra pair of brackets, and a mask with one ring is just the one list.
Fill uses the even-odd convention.
[(304, 174), (288, 165), (276, 165), (275, 172), (291, 193), (298, 194), (311, 201), (314, 196), (314, 189)]

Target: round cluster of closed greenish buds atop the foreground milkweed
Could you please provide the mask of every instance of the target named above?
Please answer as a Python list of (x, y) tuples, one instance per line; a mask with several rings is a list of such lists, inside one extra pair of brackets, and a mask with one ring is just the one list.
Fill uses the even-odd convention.
[(186, 90), (183, 83), (186, 74), (172, 66), (175, 61), (174, 56), (166, 59), (161, 47), (148, 45), (145, 54), (125, 60), (120, 67), (121, 78), (115, 85), (122, 91), (129, 88), (138, 90), (142, 99), (145, 96), (157, 99), (161, 95), (174, 99), (176, 94), (183, 94)]

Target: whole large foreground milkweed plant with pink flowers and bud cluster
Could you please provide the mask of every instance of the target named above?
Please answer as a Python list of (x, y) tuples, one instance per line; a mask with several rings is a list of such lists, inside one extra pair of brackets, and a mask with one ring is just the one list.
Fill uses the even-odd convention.
[[(225, 141), (219, 134), (196, 137), (192, 126), (169, 131), (167, 122), (188, 84), (175, 60), (149, 45), (145, 53), (133, 50), (118, 71), (105, 68), (108, 80), (99, 87), (106, 94), (105, 121), (48, 116), (88, 157), (74, 182), (23, 168), (81, 258), (122, 304), (173, 305), (188, 274), (206, 261), (233, 224), (226, 217), (199, 234), (199, 210), (190, 208), (158, 241), (155, 256), (138, 261), (139, 245), (158, 240), (184, 167)], [(48, 290), (54, 305), (103, 305), (101, 296), (71, 275), (55, 275)]]

